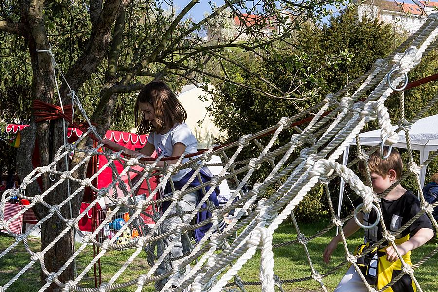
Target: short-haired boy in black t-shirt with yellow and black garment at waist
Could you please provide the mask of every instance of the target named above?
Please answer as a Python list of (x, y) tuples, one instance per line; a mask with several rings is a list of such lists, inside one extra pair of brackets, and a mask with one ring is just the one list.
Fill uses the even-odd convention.
[[(384, 152), (387, 153), (388, 147)], [(380, 150), (374, 152), (368, 160), (371, 172), (371, 181), (374, 192), (381, 194), (402, 176), (403, 162), (399, 152), (393, 148), (387, 159), (382, 159)], [(359, 164), (359, 170), (365, 173), (363, 164)], [(360, 201), (359, 201), (360, 202)], [(359, 204), (357, 202), (357, 205)], [(396, 185), (381, 199), (380, 207), (383, 213), (383, 222), (388, 231), (397, 232), (420, 210), (420, 202), (411, 192), (403, 188), (400, 184)], [(364, 225), (372, 225), (377, 218), (375, 211), (371, 213), (358, 213), (358, 219)], [(354, 219), (348, 221), (344, 227), (346, 237), (359, 230), (359, 226)], [(412, 265), (411, 251), (425, 244), (434, 236), (434, 231), (429, 218), (422, 214), (402, 233), (396, 236), (395, 243), (404, 261)], [(365, 229), (364, 244), (359, 246), (357, 253), (365, 250), (383, 238), (382, 226), (379, 223), (376, 227)], [(329, 245), (324, 250), (324, 261), (329, 263), (331, 254), (336, 249), (341, 237), (338, 234), (333, 237)], [(388, 241), (383, 242), (372, 252), (358, 259), (358, 266), (365, 275), (367, 282), (376, 289), (383, 288), (398, 274), (402, 273), (402, 262), (398, 258), (395, 249)], [(335, 292), (362, 292), (368, 291), (362, 282), (354, 266), (350, 266), (347, 273), (342, 278)], [(387, 288), (385, 292), (415, 292), (416, 288), (408, 274), (402, 276), (400, 280)]]

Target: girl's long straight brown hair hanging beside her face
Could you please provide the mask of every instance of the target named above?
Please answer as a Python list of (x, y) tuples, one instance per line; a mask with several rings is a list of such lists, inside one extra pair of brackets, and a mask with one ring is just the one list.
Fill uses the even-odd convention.
[[(152, 104), (156, 119), (155, 128), (150, 121), (145, 120), (143, 112), (139, 112), (140, 102)], [(164, 81), (152, 81), (146, 84), (137, 96), (134, 118), (138, 134), (146, 134), (151, 130), (161, 133), (165, 128), (172, 128), (176, 123), (183, 123), (187, 119), (187, 112)]]

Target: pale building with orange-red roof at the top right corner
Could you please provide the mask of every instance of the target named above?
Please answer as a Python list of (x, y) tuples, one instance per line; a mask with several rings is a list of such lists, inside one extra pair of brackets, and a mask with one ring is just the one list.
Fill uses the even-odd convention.
[(428, 15), (437, 13), (438, 2), (417, 1), (417, 4), (409, 4), (397, 1), (367, 0), (358, 5), (358, 17), (362, 19), (379, 19), (383, 23), (389, 23), (396, 33), (412, 35), (427, 20)]

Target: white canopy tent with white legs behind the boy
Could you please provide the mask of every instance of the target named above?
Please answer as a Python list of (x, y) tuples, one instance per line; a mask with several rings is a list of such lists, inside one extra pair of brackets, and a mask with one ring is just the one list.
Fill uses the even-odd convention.
[[(394, 126), (393, 130), (396, 130), (398, 126)], [(406, 149), (406, 137), (404, 131), (399, 133), (399, 142), (393, 144), (393, 147)], [(438, 114), (426, 117), (418, 120), (411, 126), (409, 131), (409, 137), (411, 141), (411, 148), (413, 150), (420, 151), (420, 164), (427, 160), (429, 152), (438, 150)], [(380, 138), (380, 129), (370, 132), (359, 134), (361, 145), (377, 145), (380, 144), (382, 139)], [(356, 145), (356, 141), (353, 140), (351, 145)], [(348, 163), (349, 146), (344, 151), (342, 164)], [(424, 186), (424, 180), (426, 178), (427, 166), (421, 169), (420, 182), (421, 186)], [(339, 189), (339, 201), (338, 201), (338, 216), (341, 213), (342, 197), (344, 195), (344, 180), (341, 178), (341, 185)]]

